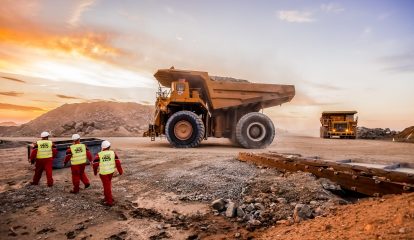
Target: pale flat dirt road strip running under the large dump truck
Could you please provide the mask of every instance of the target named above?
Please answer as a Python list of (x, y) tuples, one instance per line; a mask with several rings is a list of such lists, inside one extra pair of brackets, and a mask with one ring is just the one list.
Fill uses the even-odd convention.
[[(119, 143), (123, 148), (139, 148), (151, 150), (157, 147), (157, 151), (176, 152), (170, 148), (165, 139), (157, 139), (150, 142), (145, 138), (109, 138), (114, 143)], [(183, 149), (180, 151), (193, 152), (194, 149)], [(240, 151), (279, 153), (296, 153), (303, 156), (319, 156), (327, 160), (352, 159), (361, 162), (377, 163), (409, 163), (414, 164), (414, 145), (411, 143), (374, 141), (374, 140), (351, 140), (351, 139), (321, 139), (316, 137), (302, 137), (282, 135), (277, 136), (275, 141), (266, 149), (252, 150), (233, 147), (227, 139), (210, 138), (197, 148), (197, 153), (227, 153), (235, 155)]]

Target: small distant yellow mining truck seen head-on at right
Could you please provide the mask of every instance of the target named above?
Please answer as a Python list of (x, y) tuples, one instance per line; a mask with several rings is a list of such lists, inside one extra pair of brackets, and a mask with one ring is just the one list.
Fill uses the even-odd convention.
[(329, 111), (322, 112), (321, 138), (351, 138), (355, 139), (357, 134), (358, 117), (357, 111)]

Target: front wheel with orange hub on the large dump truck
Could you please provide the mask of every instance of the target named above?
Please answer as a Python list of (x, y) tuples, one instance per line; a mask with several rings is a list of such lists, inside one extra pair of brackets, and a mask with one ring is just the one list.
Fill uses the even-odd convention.
[(176, 148), (197, 147), (204, 138), (204, 123), (190, 111), (174, 113), (165, 125), (168, 142)]

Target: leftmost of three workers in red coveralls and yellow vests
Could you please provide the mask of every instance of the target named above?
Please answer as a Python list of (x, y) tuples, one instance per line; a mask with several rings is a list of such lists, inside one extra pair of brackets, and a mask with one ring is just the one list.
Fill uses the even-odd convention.
[(41, 140), (33, 143), (33, 149), (30, 153), (30, 162), (35, 164), (35, 174), (31, 185), (38, 185), (42, 177), (43, 170), (46, 172), (47, 186), (53, 186), (52, 167), (53, 159), (57, 155), (55, 144), (49, 140), (49, 133), (42, 132)]

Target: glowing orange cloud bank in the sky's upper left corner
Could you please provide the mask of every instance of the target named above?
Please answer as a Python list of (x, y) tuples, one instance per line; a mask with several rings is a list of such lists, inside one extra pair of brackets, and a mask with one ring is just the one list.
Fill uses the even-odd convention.
[[(47, 51), (44, 55), (62, 53), (72, 56), (85, 56), (94, 60), (114, 63), (114, 57), (127, 55), (126, 52), (113, 45), (117, 34), (95, 27), (93, 30), (82, 30), (62, 26), (62, 22), (41, 21), (41, 9), (38, 1), (3, 0), (0, 4), (0, 50), (3, 54), (10, 46), (22, 49), (32, 48)], [(82, 13), (94, 4), (94, 0), (75, 4), (73, 11), (62, 12), (62, 17), (69, 14), (69, 24), (77, 25)], [(74, 3), (62, 3), (70, 9)], [(1, 54), (1, 51), (0, 51)], [(9, 55), (12, 53), (8, 53)], [(7, 56), (3, 56), (7, 57)], [(9, 59), (10, 60), (10, 59)]]

